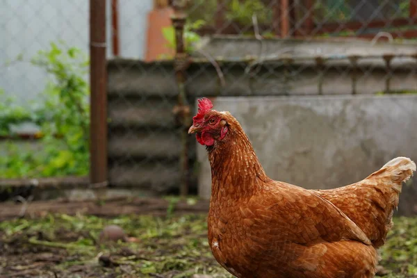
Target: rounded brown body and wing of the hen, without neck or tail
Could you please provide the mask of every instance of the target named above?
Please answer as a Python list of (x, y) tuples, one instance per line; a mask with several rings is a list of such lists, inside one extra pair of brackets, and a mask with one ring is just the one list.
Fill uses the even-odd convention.
[(271, 181), (252, 197), (226, 196), (211, 202), (208, 242), (237, 277), (373, 277), (375, 248), (313, 193)]

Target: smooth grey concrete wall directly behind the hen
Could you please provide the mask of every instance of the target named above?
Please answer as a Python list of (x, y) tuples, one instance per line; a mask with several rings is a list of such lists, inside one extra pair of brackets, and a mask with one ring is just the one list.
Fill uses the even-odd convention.
[[(354, 183), (396, 156), (417, 161), (417, 95), (218, 97), (249, 136), (272, 179), (304, 188)], [(197, 144), (198, 145), (198, 144)], [(198, 145), (199, 195), (209, 197), (210, 165)], [(400, 202), (417, 212), (417, 179)]]

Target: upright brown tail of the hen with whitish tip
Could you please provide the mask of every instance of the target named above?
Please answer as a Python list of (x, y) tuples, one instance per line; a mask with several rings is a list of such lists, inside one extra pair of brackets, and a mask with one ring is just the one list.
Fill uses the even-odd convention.
[(400, 201), (402, 182), (416, 171), (410, 158), (387, 162), (369, 177), (350, 186), (321, 190), (318, 195), (341, 209), (368, 236), (374, 247), (385, 243), (393, 226), (393, 211)]

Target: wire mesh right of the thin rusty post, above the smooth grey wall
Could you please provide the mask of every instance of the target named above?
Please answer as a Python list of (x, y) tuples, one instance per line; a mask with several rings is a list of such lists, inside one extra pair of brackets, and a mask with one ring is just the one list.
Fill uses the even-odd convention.
[(189, 1), (188, 93), (416, 93), (416, 19), (415, 1)]

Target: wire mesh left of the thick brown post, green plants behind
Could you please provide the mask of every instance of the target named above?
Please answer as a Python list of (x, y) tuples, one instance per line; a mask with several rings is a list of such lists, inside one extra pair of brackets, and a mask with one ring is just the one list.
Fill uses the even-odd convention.
[(88, 175), (89, 4), (1, 6), (0, 196), (19, 201), (45, 182)]

